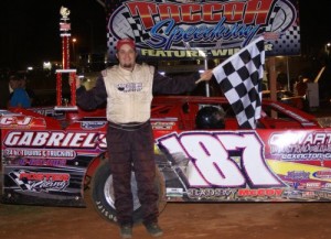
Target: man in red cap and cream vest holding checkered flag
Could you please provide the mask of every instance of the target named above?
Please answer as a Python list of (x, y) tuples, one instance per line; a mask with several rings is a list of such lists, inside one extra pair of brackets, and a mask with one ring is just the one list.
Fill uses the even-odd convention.
[(153, 134), (149, 121), (152, 95), (191, 91), (199, 78), (210, 80), (213, 74), (205, 70), (201, 75), (166, 77), (153, 66), (136, 63), (132, 40), (119, 40), (116, 48), (119, 65), (103, 70), (94, 88), (86, 90), (77, 83), (77, 105), (90, 110), (107, 101), (107, 148), (121, 237), (132, 237), (131, 171), (137, 180), (142, 222), (151, 236), (158, 237), (163, 232), (158, 225)]

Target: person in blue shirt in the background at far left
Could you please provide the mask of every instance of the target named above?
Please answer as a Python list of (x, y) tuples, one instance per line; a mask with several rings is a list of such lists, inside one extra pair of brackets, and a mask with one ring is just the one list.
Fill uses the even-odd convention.
[(11, 78), (10, 80), (13, 80), (13, 84), (11, 85), (13, 91), (10, 94), (8, 107), (31, 107), (31, 99), (26, 90), (22, 87), (22, 82), (20, 77), (13, 76), (13, 78)]

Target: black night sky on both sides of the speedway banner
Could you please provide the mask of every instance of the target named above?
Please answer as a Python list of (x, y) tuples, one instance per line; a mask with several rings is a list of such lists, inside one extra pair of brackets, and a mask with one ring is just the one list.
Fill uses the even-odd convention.
[[(61, 6), (71, 10), (77, 51), (105, 51), (106, 13), (96, 0), (0, 0), (0, 67), (61, 61)], [(331, 41), (329, 0), (299, 0), (299, 11), (302, 50)]]

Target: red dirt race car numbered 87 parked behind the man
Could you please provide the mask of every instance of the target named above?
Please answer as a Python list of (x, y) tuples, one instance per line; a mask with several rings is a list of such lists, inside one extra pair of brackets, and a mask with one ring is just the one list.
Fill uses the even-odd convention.
[[(222, 97), (158, 96), (151, 108), (156, 186), (167, 202), (330, 202), (331, 129), (263, 100), (257, 128), (242, 129)], [(105, 109), (0, 111), (4, 204), (86, 206), (115, 222)], [(132, 172), (136, 222), (141, 220)]]

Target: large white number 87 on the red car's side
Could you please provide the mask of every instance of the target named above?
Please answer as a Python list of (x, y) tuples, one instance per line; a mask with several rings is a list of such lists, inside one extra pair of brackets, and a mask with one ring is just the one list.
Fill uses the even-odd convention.
[[(158, 142), (174, 155), (189, 159), (182, 171), (191, 186), (284, 186), (264, 160), (264, 144), (255, 132), (172, 134)], [(229, 156), (242, 153), (241, 162)]]

